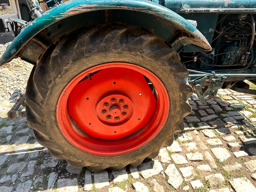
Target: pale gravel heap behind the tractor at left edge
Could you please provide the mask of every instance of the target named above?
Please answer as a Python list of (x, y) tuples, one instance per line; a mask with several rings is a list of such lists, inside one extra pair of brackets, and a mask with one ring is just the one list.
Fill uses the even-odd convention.
[[(0, 44), (0, 56), (8, 45), (10, 43)], [(32, 67), (33, 65), (19, 58), (0, 67), (0, 101), (19, 97), (19, 94), (26, 88)]]

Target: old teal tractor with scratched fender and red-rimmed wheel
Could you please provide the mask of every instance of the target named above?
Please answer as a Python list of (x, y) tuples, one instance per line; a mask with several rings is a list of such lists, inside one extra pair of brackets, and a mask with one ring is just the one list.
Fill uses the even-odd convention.
[(73, 167), (155, 158), (183, 131), (193, 92), (202, 105), (221, 88), (256, 94), (244, 81), (256, 83), (254, 0), (26, 1), (31, 21), (1, 16), (15, 39), (0, 65), (34, 65), (16, 104)]

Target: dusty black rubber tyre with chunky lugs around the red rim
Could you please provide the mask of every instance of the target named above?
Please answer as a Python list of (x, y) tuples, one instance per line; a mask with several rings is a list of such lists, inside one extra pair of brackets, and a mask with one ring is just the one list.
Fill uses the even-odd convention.
[[(85, 152), (72, 145), (69, 137), (60, 130), (57, 121), (59, 98), (79, 74), (103, 63), (116, 62), (127, 63), (127, 66), (131, 63), (159, 79), (168, 94), (169, 108), (163, 117), (166, 121), (149, 142), (136, 150), (127, 148), (129, 152), (114, 155)], [(94, 78), (93, 74), (91, 78)], [(71, 166), (86, 166), (92, 171), (138, 166), (145, 158), (155, 158), (162, 146), (170, 146), (173, 134), (184, 129), (183, 117), (191, 113), (187, 100), (193, 91), (187, 78), (188, 71), (177, 52), (153, 31), (123, 23), (76, 31), (63, 38), (56, 47), (50, 47), (33, 68), (26, 91), (27, 121), (38, 143), (46, 146), (55, 158), (66, 159)], [(86, 115), (86, 111), (81, 115)]]

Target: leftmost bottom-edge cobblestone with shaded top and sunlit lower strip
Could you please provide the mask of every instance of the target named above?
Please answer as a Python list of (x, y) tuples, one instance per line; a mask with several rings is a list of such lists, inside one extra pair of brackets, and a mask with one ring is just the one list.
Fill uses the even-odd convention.
[(56, 191), (59, 192), (78, 192), (78, 181), (74, 179), (58, 179)]

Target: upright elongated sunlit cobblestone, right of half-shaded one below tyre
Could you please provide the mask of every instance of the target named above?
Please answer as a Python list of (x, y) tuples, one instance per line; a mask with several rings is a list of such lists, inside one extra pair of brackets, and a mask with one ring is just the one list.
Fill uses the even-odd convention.
[(173, 186), (175, 189), (178, 189), (179, 186), (182, 184), (183, 179), (179, 174), (179, 171), (175, 167), (174, 164), (168, 165), (167, 169), (165, 170), (166, 175), (168, 175), (168, 183)]

